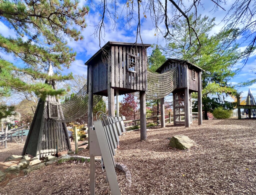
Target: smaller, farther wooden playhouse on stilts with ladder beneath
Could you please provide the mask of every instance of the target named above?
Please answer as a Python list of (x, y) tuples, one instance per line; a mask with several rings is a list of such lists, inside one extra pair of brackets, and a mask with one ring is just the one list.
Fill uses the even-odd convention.
[[(173, 91), (173, 118), (176, 124), (192, 124), (191, 93), (198, 92), (198, 124), (202, 124), (202, 79), (203, 69), (186, 60), (168, 58), (156, 72), (164, 73), (177, 68), (177, 88)], [(161, 108), (164, 100), (161, 100)], [(162, 113), (161, 113), (162, 115)], [(184, 118), (184, 120), (183, 120)]]

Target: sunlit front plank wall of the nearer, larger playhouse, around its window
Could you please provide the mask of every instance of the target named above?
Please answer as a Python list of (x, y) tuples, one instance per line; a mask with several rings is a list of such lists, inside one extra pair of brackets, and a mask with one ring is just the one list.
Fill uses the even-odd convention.
[[(127, 53), (138, 56), (136, 59), (135, 72), (128, 70)], [(112, 46), (112, 77), (111, 87), (147, 90), (147, 54), (144, 48), (128, 46)]]

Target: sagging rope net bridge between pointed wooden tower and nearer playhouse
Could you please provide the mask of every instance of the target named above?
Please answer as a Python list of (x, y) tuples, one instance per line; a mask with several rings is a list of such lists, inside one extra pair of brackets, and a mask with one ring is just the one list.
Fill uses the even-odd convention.
[[(101, 96), (93, 95), (93, 106), (100, 101)], [(59, 122), (71, 122), (85, 115), (88, 115), (88, 94), (87, 84), (74, 95), (68, 102), (59, 104), (58, 102), (48, 102), (44, 110), (44, 116)]]

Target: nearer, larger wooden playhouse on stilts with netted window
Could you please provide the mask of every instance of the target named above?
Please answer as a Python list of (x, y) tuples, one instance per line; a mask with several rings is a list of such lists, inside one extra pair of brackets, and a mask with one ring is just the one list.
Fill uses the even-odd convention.
[(148, 47), (150, 44), (109, 41), (85, 63), (89, 95), (88, 127), (92, 126), (93, 94), (108, 97), (108, 114), (113, 116), (114, 95), (140, 92), (141, 137), (146, 139)]

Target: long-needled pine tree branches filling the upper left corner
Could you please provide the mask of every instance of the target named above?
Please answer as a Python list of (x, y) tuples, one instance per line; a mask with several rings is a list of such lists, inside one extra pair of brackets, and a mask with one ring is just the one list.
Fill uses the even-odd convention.
[[(0, 34), (0, 48), (23, 62), (23, 67), (0, 59), (0, 89), (2, 96), (7, 92), (28, 91), (45, 98), (46, 95), (63, 94), (46, 83), (29, 84), (19, 78), (27, 75), (31, 79), (66, 80), (72, 75), (48, 76), (45, 70), (52, 64), (57, 70), (68, 68), (76, 53), (67, 46), (67, 39), (81, 40), (80, 30), (86, 27), (84, 16), (88, 7), (78, 7), (77, 0), (0, 1), (0, 20), (16, 32), (16, 36)], [(3, 105), (2, 105), (3, 106)]]

